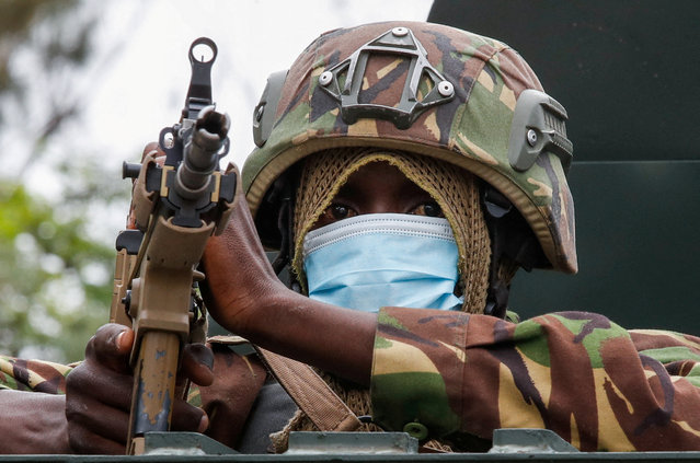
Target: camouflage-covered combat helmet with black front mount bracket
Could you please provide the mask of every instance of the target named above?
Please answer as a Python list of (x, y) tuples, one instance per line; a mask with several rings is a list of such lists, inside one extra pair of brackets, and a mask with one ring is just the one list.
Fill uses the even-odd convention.
[(340, 28), (269, 77), (243, 187), (261, 240), (278, 248), (279, 183), (305, 157), (378, 147), (437, 158), (490, 186), (492, 218), (517, 209), (539, 255), (530, 267), (575, 273), (565, 119), (525, 60), (498, 40), (420, 22)]

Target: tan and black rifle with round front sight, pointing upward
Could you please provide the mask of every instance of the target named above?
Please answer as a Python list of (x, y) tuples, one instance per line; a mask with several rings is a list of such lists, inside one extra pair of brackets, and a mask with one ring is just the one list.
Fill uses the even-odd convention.
[[(209, 49), (210, 59), (195, 57), (195, 48), (202, 47)], [(159, 137), (164, 163), (148, 153), (140, 164), (125, 162), (123, 167), (124, 178), (135, 178), (135, 228), (116, 240), (110, 321), (135, 331), (129, 454), (142, 453), (146, 432), (170, 430), (181, 347), (206, 323), (197, 297), (204, 275), (196, 267), (207, 240), (226, 228), (236, 193), (233, 167), (219, 170), (229, 150), (230, 119), (217, 113), (211, 101), (216, 44), (197, 38), (188, 55), (192, 78), (185, 107), (180, 121)], [(203, 337), (206, 333), (199, 331)]]

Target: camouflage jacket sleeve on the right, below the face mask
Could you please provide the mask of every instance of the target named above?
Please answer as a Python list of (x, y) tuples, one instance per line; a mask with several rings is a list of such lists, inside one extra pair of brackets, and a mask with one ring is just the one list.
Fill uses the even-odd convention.
[(374, 419), (390, 430), (491, 439), (548, 428), (584, 451), (700, 449), (700, 339), (628, 332), (562, 312), (509, 323), (385, 308), (375, 340)]

